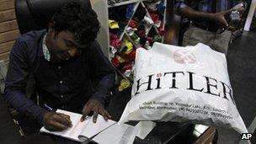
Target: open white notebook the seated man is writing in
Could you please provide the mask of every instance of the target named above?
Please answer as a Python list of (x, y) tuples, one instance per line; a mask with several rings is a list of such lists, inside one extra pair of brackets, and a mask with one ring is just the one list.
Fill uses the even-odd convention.
[(96, 123), (93, 123), (92, 117), (88, 117), (86, 120), (81, 122), (80, 119), (82, 115), (80, 114), (61, 109), (57, 109), (56, 112), (69, 115), (72, 120), (72, 127), (65, 131), (48, 131), (45, 127), (42, 127), (40, 132), (66, 137), (73, 141), (83, 142), (92, 139), (94, 136), (97, 136), (100, 132), (108, 129), (116, 123), (114, 120), (104, 120), (104, 117), (101, 115), (98, 115)]

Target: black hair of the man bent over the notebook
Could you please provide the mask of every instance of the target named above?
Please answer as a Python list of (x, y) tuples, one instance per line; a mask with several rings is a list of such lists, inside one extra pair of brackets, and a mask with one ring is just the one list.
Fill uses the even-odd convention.
[(92, 8), (81, 3), (67, 3), (59, 8), (51, 19), (52, 29), (58, 34), (62, 30), (72, 32), (79, 45), (89, 45), (99, 33), (99, 20)]

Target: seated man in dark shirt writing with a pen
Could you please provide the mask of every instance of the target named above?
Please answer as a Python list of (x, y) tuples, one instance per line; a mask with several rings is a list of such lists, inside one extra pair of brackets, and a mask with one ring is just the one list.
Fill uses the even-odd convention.
[[(4, 99), (20, 115), (36, 120), (50, 131), (72, 126), (68, 115), (43, 108), (110, 118), (104, 109), (115, 71), (95, 40), (99, 21), (91, 8), (67, 3), (56, 11), (48, 29), (21, 35), (9, 58)], [(40, 105), (25, 97), (29, 76), (35, 77)], [(93, 83), (96, 83), (93, 85)]]

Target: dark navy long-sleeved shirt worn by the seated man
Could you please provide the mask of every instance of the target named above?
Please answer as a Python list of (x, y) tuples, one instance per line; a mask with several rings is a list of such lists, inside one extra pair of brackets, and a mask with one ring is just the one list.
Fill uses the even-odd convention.
[[(40, 105), (81, 113), (88, 99), (102, 104), (115, 83), (115, 70), (100, 50), (97, 41), (68, 61), (46, 61), (42, 51), (45, 30), (21, 35), (13, 45), (9, 58), (4, 98), (21, 114), (40, 124), (47, 110), (25, 97), (29, 75), (35, 77)], [(94, 84), (94, 85), (93, 85)]]

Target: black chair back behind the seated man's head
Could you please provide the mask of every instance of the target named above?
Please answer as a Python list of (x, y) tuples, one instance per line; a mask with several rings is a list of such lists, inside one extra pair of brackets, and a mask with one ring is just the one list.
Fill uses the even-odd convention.
[(16, 19), (20, 34), (45, 29), (52, 15), (68, 2), (77, 1), (92, 8), (89, 0), (15, 0)]

